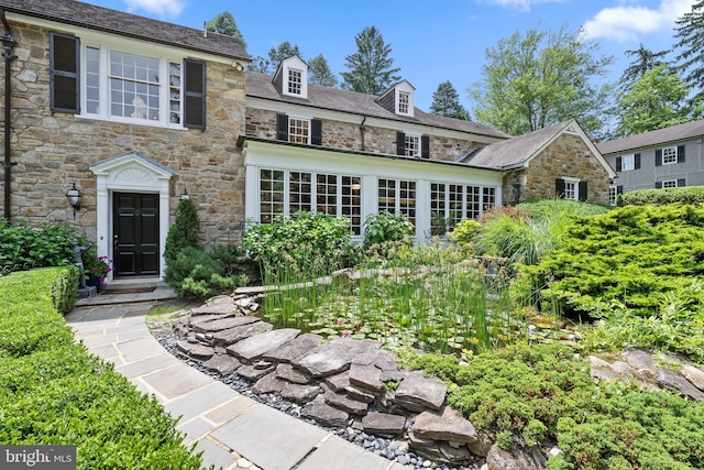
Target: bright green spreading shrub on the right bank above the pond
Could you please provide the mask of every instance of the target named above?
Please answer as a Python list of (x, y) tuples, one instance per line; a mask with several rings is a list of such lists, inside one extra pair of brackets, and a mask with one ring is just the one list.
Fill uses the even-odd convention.
[(524, 270), (543, 299), (600, 320), (596, 347), (646, 346), (704, 361), (704, 207), (628, 206), (578, 219)]

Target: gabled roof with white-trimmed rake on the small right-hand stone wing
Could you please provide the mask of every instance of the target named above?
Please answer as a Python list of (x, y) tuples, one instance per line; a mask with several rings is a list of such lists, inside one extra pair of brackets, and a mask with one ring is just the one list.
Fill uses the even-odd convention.
[(464, 162), (471, 165), (491, 166), (502, 170), (528, 166), (532, 159), (538, 156), (540, 152), (564, 132), (579, 135), (600, 163), (607, 170), (609, 175), (615, 175), (614, 170), (604, 160), (600, 151), (574, 119), (562, 121), (549, 128), (539, 129), (517, 138), (493, 143), (471, 154)]

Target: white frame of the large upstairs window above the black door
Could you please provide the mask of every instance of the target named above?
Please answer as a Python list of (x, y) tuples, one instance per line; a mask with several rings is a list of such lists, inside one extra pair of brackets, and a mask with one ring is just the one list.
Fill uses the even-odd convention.
[[(88, 113), (86, 110), (88, 94), (86, 91), (87, 80), (87, 59), (86, 59), (86, 48), (97, 48), (100, 51), (99, 57), (99, 79), (100, 79), (100, 94), (99, 94), (99, 103), (100, 110), (98, 113)], [(110, 116), (110, 51), (118, 51), (128, 54), (134, 54), (139, 56), (148, 56), (158, 58), (160, 61), (160, 77), (162, 78), (162, 83), (160, 83), (160, 119), (158, 120), (150, 120), (150, 119), (135, 119), (128, 118), (122, 116)], [(185, 81), (185, 69), (184, 69), (184, 56), (175, 55), (175, 54), (164, 54), (163, 51), (153, 47), (143, 47), (142, 45), (134, 45), (129, 42), (116, 42), (116, 41), (103, 41), (98, 37), (91, 37), (90, 35), (82, 36), (80, 42), (80, 113), (77, 114), (78, 118), (82, 119), (94, 119), (109, 122), (120, 122), (125, 124), (138, 124), (138, 125), (151, 125), (157, 128), (168, 128), (168, 129), (186, 129), (184, 127), (184, 81)], [(182, 83), (180, 83), (180, 123), (172, 123), (169, 122), (170, 113), (168, 112), (168, 102), (169, 102), (169, 64), (176, 63), (182, 66)]]

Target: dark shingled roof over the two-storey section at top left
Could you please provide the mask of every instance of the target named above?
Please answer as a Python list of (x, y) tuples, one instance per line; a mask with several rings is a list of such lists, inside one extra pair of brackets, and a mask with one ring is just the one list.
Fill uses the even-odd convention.
[[(12, 13), (95, 31), (133, 37), (200, 53), (249, 62), (244, 45), (224, 34), (152, 20), (76, 0), (0, 0), (0, 7)], [(12, 25), (10, 25), (12, 29)]]

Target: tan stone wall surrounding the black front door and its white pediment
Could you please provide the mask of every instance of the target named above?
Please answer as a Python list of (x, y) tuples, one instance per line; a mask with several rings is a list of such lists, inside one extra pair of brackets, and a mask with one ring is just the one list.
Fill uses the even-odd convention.
[[(64, 195), (75, 182), (84, 193), (75, 223), (95, 239), (96, 176), (89, 166), (134, 151), (175, 172), (172, 217), (187, 187), (198, 207), (204, 241), (239, 239), (244, 165), (235, 142), (244, 129), (243, 72), (207, 64), (206, 130), (82, 119), (50, 110), (50, 30), (15, 22), (11, 29), (18, 40), (13, 51), (18, 59), (12, 63), (13, 219), (73, 223), (73, 209)], [(4, 83), (0, 87), (4, 89)]]

